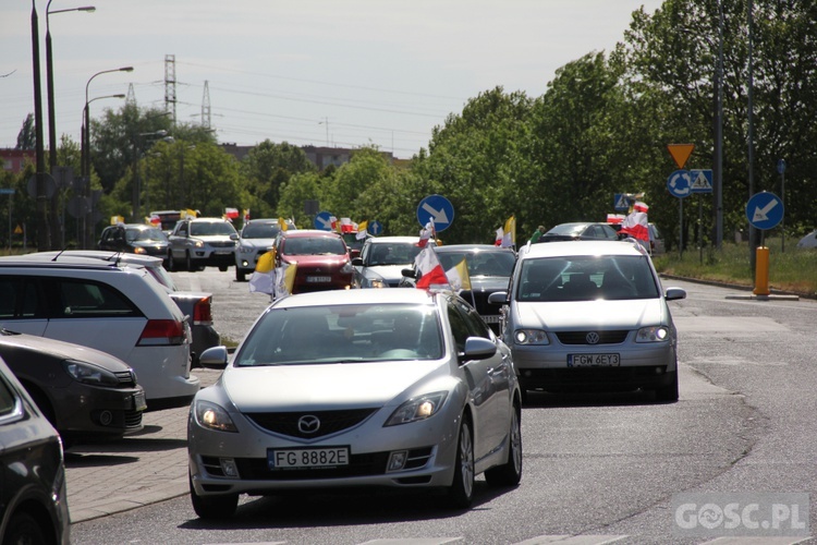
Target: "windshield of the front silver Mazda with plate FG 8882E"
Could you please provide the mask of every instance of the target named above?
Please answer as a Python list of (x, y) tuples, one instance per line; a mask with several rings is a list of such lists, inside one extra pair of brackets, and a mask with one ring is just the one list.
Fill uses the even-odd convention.
[(435, 307), (414, 304), (271, 308), (235, 354), (236, 366), (437, 360)]

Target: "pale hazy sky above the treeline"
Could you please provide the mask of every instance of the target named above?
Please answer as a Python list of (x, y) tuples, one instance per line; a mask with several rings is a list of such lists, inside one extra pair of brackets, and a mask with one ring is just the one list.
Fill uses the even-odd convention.
[[(559, 68), (611, 51), (633, 11), (661, 3), (0, 0), (0, 148), (16, 145), (34, 112), (33, 5), (46, 146), (48, 22), (59, 136), (80, 142), (86, 88), (98, 119), (123, 105), (111, 95), (164, 108), (169, 80), (176, 122), (209, 124), (219, 143), (375, 145), (408, 159), (470, 99), (495, 87), (541, 96)], [(96, 11), (56, 13), (87, 5)]]

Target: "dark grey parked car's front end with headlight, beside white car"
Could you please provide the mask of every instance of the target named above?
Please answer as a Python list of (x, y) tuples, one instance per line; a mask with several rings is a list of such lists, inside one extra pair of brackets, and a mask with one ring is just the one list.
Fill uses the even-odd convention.
[(80, 344), (0, 329), (0, 356), (68, 446), (142, 429), (145, 390), (122, 360)]

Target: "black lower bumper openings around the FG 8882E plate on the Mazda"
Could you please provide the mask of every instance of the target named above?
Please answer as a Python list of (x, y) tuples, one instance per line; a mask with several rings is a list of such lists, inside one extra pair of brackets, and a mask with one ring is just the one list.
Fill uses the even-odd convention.
[[(408, 451), (406, 470), (423, 468), (428, 463), (434, 447)], [(242, 480), (248, 481), (308, 481), (310, 479), (343, 479), (352, 476), (382, 475), (389, 461), (389, 452), (350, 455), (349, 465), (308, 470), (270, 470), (266, 458), (234, 458)], [(209, 475), (223, 477), (217, 457), (203, 456), (202, 463)]]

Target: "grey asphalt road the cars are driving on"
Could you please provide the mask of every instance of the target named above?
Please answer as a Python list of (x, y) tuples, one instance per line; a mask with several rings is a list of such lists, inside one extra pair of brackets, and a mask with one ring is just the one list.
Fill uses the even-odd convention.
[[(231, 339), (269, 301), (229, 272), (175, 275), (182, 288), (214, 292), (216, 327)], [(467, 511), (444, 510), (428, 495), (308, 495), (244, 498), (233, 520), (205, 523), (182, 497), (75, 524), (74, 543), (709, 543), (712, 536), (676, 533), (676, 494), (817, 489), (817, 303), (670, 284), (688, 292), (671, 303), (679, 402), (532, 393), (522, 484), (493, 491), (479, 483)], [(812, 505), (801, 517), (815, 514)]]

